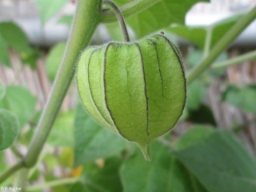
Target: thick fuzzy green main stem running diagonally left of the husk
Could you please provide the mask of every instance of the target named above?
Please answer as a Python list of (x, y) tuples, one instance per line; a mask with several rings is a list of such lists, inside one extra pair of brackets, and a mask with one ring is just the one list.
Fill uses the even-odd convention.
[[(62, 65), (58, 70), (50, 98), (46, 103), (38, 126), (33, 135), (32, 141), (24, 165), (27, 168), (34, 166), (42, 147), (46, 142), (48, 134), (62, 105), (66, 91), (74, 77), (75, 65), (80, 51), (89, 45), (90, 38), (98, 26), (101, 18), (102, 0), (78, 0), (74, 22), (70, 33), (70, 38), (66, 46), (65, 56)], [(23, 179), (22, 180), (26, 180)]]

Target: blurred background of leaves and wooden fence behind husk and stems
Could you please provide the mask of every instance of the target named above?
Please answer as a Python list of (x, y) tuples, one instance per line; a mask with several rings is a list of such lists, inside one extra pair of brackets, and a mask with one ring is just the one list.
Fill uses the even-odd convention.
[[(74, 2), (0, 0), (0, 173), (26, 154), (62, 61)], [(126, 22), (132, 39), (164, 31), (182, 51), (187, 72), (255, 5), (254, 0), (162, 0)], [(74, 82), (27, 190), (256, 191), (255, 54), (239, 65), (214, 68), (255, 50), (255, 31), (255, 25), (248, 27), (188, 86), (182, 118), (153, 143), (151, 162), (85, 113)], [(91, 44), (112, 39), (122, 41), (118, 24), (102, 24)]]

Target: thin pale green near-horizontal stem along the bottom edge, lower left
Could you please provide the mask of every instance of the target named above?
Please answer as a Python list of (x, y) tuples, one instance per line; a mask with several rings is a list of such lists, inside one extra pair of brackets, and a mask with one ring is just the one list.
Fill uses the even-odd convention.
[(46, 182), (42, 185), (38, 185), (38, 186), (28, 186), (26, 188), (27, 191), (35, 191), (35, 190), (44, 190), (47, 187), (53, 187), (53, 186), (62, 186), (62, 185), (66, 185), (66, 184), (72, 184), (74, 182), (78, 182), (80, 180), (80, 178), (62, 178), (62, 179), (58, 179), (56, 181), (53, 182)]

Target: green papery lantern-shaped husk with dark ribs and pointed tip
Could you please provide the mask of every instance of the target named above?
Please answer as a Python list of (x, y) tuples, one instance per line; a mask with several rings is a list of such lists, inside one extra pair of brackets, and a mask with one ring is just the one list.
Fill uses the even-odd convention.
[(178, 49), (156, 34), (138, 42), (109, 42), (84, 50), (78, 92), (102, 126), (141, 147), (171, 130), (186, 103), (186, 78)]

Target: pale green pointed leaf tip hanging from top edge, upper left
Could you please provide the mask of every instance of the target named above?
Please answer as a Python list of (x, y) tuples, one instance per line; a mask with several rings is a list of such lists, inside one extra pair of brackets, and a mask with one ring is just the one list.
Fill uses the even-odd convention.
[(66, 2), (67, 0), (35, 0), (42, 22), (46, 23)]

